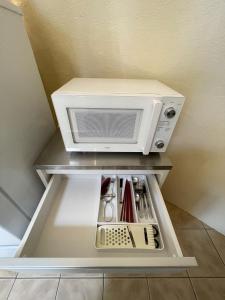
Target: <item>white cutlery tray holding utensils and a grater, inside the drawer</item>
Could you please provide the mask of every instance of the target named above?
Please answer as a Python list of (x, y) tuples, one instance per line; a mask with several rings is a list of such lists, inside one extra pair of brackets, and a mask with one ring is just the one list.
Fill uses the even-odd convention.
[[(141, 182), (144, 196), (137, 196), (137, 184)], [(155, 213), (146, 176), (105, 175), (98, 210), (95, 246), (101, 250), (155, 250), (164, 248), (160, 226)], [(130, 188), (130, 203), (127, 206), (132, 217), (123, 216), (126, 185)], [(142, 193), (143, 194), (143, 193)], [(138, 200), (138, 201), (137, 201)], [(127, 214), (128, 215), (128, 214)], [(126, 218), (125, 218), (126, 219)]]

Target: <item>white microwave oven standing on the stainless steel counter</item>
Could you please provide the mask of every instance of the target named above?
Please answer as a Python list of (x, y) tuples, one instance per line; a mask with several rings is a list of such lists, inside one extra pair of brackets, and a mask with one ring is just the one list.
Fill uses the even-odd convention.
[(184, 96), (156, 80), (74, 78), (52, 94), (67, 151), (164, 152)]

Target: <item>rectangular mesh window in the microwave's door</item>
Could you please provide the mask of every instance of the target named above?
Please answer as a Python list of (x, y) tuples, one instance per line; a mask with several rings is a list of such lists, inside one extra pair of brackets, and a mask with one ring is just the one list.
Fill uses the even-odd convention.
[(137, 143), (140, 109), (69, 109), (75, 143)]

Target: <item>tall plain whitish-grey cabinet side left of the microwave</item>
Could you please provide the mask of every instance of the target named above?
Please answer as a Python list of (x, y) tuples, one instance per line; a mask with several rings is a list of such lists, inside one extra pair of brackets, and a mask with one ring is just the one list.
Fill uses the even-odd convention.
[[(0, 256), (14, 251), (43, 193), (33, 162), (55, 126), (20, 10), (0, 0)], [(14, 249), (14, 250), (13, 250)]]

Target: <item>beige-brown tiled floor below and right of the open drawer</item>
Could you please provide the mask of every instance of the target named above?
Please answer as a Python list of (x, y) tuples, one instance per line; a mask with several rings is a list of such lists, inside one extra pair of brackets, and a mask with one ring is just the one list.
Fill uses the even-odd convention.
[(225, 300), (225, 237), (167, 204), (184, 255), (199, 266), (179, 273), (15, 274), (0, 272), (0, 300)]

